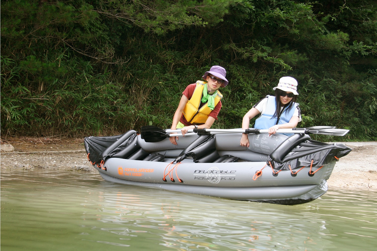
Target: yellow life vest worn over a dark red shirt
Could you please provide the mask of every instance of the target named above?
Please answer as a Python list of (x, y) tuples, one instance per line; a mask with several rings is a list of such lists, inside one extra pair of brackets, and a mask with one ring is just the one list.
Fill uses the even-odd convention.
[[(185, 108), (183, 109), (183, 115), (185, 116), (187, 122), (192, 124), (199, 124), (205, 123), (208, 118), (208, 115), (211, 113), (210, 108), (208, 107), (207, 103), (202, 105), (199, 109), (199, 105), (203, 95), (203, 89), (206, 82), (204, 81), (196, 81), (196, 87), (194, 93), (192, 94), (191, 99), (187, 101)], [(215, 97), (215, 106), (219, 103), (222, 99), (222, 94), (217, 91), (217, 95)]]

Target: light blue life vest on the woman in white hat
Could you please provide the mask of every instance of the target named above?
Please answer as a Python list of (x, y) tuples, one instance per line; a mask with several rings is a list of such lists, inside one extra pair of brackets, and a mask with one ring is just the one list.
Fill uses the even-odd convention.
[[(268, 129), (274, 125), (281, 125), (285, 123), (289, 123), (291, 120), (294, 110), (299, 105), (298, 103), (293, 103), (293, 106), (290, 109), (284, 108), (282, 114), (280, 114), (279, 122), (276, 123), (277, 117), (273, 117), (276, 111), (276, 99), (275, 96), (267, 95), (267, 107), (266, 110), (262, 112), (261, 116), (259, 116), (255, 120), (254, 128), (257, 129)], [(285, 134), (288, 136), (293, 135), (292, 133)]]

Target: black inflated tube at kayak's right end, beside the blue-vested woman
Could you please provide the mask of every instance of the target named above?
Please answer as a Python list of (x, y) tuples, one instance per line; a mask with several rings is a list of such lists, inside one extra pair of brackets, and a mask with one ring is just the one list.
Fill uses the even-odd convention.
[(308, 134), (293, 134), (281, 143), (271, 154), (270, 158), (277, 163), (283, 163), (284, 157), (297, 145), (305, 140), (310, 140)]

